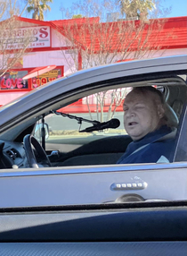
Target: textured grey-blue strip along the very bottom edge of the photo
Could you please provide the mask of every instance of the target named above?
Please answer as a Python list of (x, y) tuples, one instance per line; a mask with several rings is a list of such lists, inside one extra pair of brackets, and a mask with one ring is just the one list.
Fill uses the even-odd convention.
[(183, 256), (186, 255), (186, 242), (106, 242), (106, 243), (1, 243), (1, 255), (79, 255), (79, 256)]

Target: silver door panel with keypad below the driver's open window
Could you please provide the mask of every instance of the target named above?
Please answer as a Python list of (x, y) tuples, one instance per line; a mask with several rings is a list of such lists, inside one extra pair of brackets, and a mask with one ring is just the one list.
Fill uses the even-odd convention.
[[(120, 198), (126, 194), (145, 201), (186, 200), (186, 180), (187, 163), (1, 170), (0, 207), (123, 202)], [(114, 190), (114, 183), (126, 183), (126, 188)], [(146, 183), (145, 188), (139, 183)]]

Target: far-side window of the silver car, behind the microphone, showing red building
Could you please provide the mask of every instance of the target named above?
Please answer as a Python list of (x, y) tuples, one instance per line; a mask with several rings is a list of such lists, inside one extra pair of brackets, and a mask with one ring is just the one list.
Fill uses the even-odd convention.
[[(75, 144), (76, 149), (82, 143), (115, 135), (126, 135), (123, 124), (123, 102), (126, 94), (131, 90), (132, 88), (128, 87), (98, 92), (58, 109), (56, 114), (46, 116), (45, 123), (49, 127), (49, 136), (45, 141), (46, 149), (52, 150), (55, 142), (69, 144), (69, 147), (70, 144)], [(111, 119), (114, 119), (114, 124), (110, 122)], [(116, 124), (117, 119), (119, 124)], [(95, 125), (96, 129), (92, 131), (89, 128), (93, 127), (94, 121), (106, 125), (102, 125), (101, 129), (100, 126)], [(69, 148), (64, 147), (63, 151), (68, 152)]]

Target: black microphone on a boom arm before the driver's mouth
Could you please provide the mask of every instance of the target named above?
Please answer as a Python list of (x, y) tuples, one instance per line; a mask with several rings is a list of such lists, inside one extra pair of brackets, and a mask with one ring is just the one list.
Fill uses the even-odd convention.
[(93, 132), (93, 131), (101, 131), (104, 129), (108, 129), (108, 128), (118, 128), (118, 126), (120, 125), (120, 122), (117, 118), (113, 118), (110, 121), (107, 122), (103, 122), (103, 123), (99, 123), (99, 124), (94, 124), (91, 127), (87, 127), (85, 128), (85, 130), (79, 131), (79, 132)]

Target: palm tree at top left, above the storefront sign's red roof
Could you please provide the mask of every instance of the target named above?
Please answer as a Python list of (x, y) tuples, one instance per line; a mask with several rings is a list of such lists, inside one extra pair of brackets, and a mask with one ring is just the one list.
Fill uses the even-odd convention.
[(48, 3), (53, 3), (53, 0), (28, 0), (28, 13), (32, 13), (32, 19), (44, 21), (44, 12), (51, 11)]

